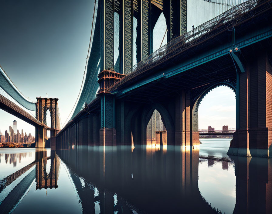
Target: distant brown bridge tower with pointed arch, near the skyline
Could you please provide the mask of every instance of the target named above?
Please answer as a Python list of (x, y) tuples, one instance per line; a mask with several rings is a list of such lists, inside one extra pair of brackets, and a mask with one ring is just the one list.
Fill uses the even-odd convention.
[[(51, 116), (50, 137), (55, 137), (60, 130), (60, 118), (58, 108), (58, 98), (41, 98), (37, 97), (36, 102), (36, 119), (44, 125), (46, 124), (46, 112), (49, 110)], [(36, 127), (36, 147), (44, 148), (46, 138), (45, 126)]]

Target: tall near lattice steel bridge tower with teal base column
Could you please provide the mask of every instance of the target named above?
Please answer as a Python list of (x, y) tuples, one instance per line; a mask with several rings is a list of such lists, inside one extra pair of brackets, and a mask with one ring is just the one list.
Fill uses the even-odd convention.
[[(168, 29), (168, 41), (187, 31), (187, 0), (102, 0), (98, 3), (100, 13), (100, 74), (98, 82), (101, 99), (100, 144), (107, 143), (110, 136), (115, 136), (115, 100), (107, 92), (114, 82), (124, 78), (132, 71), (133, 65), (133, 19), (136, 26), (136, 59), (144, 60), (153, 52), (152, 34), (161, 13), (164, 14)], [(114, 13), (119, 15), (119, 38), (114, 34)], [(152, 15), (152, 16), (151, 16)], [(119, 39), (118, 61), (114, 61), (114, 41)], [(119, 73), (119, 74), (118, 74)], [(107, 76), (108, 75), (108, 76)], [(104, 83), (107, 82), (107, 86)], [(105, 140), (106, 139), (106, 140)], [(110, 140), (111, 141), (111, 140)], [(115, 140), (113, 140), (114, 142)], [(109, 143), (110, 145), (113, 143)]]

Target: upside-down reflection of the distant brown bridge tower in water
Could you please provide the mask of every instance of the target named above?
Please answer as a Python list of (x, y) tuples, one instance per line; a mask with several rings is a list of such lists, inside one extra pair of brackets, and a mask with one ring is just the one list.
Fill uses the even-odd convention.
[(46, 164), (49, 159), (46, 157), (47, 152), (36, 152), (36, 189), (57, 188), (57, 180), (60, 172), (60, 158), (56, 157), (56, 152), (51, 151), (50, 172), (46, 172)]

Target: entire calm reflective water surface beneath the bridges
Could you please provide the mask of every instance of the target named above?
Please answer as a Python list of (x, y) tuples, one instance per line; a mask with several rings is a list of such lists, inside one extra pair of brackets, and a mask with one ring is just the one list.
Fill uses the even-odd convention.
[(230, 139), (200, 141), (1, 149), (0, 213), (271, 213), (271, 161), (230, 159)]

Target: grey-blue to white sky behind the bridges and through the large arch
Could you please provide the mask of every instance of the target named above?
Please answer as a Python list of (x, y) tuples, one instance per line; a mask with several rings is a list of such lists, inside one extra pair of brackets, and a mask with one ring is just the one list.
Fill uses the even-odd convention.
[[(31, 100), (46, 94), (59, 98), (64, 125), (80, 92), (94, 0), (0, 0), (0, 5), (0, 65)], [(154, 36), (154, 48), (161, 45), (162, 28), (154, 29), (155, 35), (156, 30), (162, 32)], [(165, 42), (166, 38), (162, 45)], [(33, 126), (0, 109), (1, 132), (12, 126), (12, 120), (20, 131), (35, 133)], [(235, 128), (235, 95), (224, 87), (211, 91), (199, 106), (199, 129), (223, 125)]]

